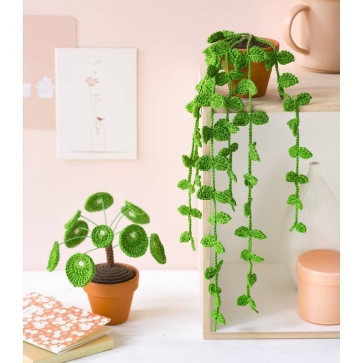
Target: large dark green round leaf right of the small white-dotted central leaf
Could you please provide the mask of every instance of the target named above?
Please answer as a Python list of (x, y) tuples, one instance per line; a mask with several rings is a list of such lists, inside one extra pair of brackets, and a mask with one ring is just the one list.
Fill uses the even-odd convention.
[(119, 235), (121, 251), (129, 257), (140, 257), (146, 253), (148, 239), (145, 229), (138, 224), (130, 224)]

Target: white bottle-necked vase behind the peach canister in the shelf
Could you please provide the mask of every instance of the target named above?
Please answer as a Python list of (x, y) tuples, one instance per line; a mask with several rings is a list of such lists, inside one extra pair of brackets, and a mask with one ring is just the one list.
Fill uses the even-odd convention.
[(300, 254), (313, 250), (339, 251), (338, 201), (324, 180), (319, 163), (309, 164), (308, 178), (309, 182), (300, 187), (303, 209), (299, 211), (299, 221), (306, 225), (307, 231), (289, 231), (294, 208), (287, 206), (281, 232), (284, 262), (296, 287), (296, 259)]

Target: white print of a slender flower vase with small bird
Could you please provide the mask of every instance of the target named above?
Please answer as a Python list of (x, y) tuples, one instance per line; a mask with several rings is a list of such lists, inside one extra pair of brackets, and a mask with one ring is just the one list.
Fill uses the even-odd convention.
[(56, 48), (59, 159), (137, 158), (137, 49)]

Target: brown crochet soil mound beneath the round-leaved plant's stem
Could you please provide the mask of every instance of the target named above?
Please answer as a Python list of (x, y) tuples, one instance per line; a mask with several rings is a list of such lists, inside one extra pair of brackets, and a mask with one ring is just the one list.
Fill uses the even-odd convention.
[(121, 263), (115, 263), (112, 266), (101, 263), (96, 265), (96, 274), (92, 282), (96, 284), (120, 284), (134, 277), (134, 272)]

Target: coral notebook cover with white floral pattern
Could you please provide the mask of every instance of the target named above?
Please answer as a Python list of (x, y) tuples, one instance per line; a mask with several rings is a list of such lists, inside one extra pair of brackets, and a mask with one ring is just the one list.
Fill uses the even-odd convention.
[(36, 292), (23, 299), (23, 340), (56, 354), (110, 320)]

